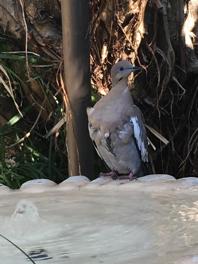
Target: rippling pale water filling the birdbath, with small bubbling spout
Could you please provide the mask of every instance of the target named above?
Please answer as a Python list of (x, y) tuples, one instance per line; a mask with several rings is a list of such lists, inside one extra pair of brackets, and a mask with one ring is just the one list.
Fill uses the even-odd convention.
[[(79, 186), (1, 195), (0, 234), (41, 264), (182, 263), (177, 260), (197, 253), (196, 188), (188, 194), (179, 188), (146, 191), (143, 185)], [(0, 255), (2, 264), (30, 263), (3, 238)]]

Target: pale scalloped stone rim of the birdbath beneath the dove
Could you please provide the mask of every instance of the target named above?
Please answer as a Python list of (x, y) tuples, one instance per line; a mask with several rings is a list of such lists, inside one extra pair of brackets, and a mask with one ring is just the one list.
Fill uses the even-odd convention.
[[(194, 186), (194, 187), (193, 187)], [(87, 177), (72, 176), (60, 184), (48, 179), (30, 180), (21, 186), (19, 191), (36, 193), (45, 191), (67, 191), (67, 190), (96, 190), (101, 191), (130, 191), (142, 190), (144, 192), (164, 192), (177, 190), (178, 192), (198, 192), (198, 178), (187, 177), (176, 180), (173, 176), (167, 174), (153, 174), (138, 178), (138, 180), (112, 180), (110, 177), (100, 177), (90, 181)], [(9, 187), (0, 184), (0, 194), (11, 193)], [(17, 191), (17, 190), (15, 190)], [(196, 193), (197, 193), (196, 192)]]

